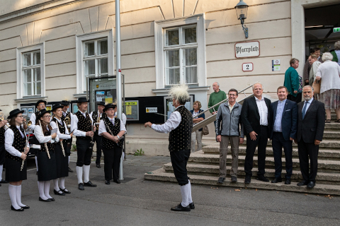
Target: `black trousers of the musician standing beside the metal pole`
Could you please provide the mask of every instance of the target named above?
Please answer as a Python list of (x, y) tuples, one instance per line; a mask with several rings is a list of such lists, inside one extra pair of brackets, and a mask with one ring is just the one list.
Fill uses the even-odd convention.
[[(122, 157), (122, 148), (115, 145), (115, 148), (103, 148), (104, 154), (104, 173), (106, 181), (119, 179), (120, 157)], [(113, 177), (112, 177), (113, 175)]]

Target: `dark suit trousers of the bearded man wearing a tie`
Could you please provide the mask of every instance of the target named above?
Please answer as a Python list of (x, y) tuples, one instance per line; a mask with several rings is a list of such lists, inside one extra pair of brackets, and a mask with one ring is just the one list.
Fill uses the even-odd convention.
[(314, 143), (305, 143), (305, 141), (301, 138), (301, 141), (297, 143), (297, 148), (299, 150), (302, 178), (306, 182), (315, 182), (315, 177), (317, 177), (317, 155), (319, 155), (319, 145), (314, 145)]

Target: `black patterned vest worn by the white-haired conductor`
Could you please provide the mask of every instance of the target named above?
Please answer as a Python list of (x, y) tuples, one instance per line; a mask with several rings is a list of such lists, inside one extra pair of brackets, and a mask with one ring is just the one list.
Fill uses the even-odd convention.
[(181, 123), (169, 134), (169, 151), (190, 150), (191, 131), (193, 131), (193, 114), (181, 106), (175, 112), (181, 114)]

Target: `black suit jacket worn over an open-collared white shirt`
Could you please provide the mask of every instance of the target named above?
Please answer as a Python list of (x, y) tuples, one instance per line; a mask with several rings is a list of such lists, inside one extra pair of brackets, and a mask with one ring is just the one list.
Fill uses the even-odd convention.
[[(271, 129), (271, 100), (264, 98), (268, 109), (268, 138), (270, 137), (270, 129)], [(255, 131), (258, 135), (261, 134), (261, 125), (260, 125), (260, 114), (259, 109), (256, 105), (255, 97), (248, 97), (244, 100), (242, 105), (241, 119), (244, 124), (245, 134), (251, 133), (251, 131)]]

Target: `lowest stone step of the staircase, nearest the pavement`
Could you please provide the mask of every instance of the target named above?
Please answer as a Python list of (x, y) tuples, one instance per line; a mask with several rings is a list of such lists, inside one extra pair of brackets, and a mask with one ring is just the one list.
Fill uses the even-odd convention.
[[(305, 194), (326, 194), (326, 195), (340, 195), (340, 185), (334, 184), (321, 184), (317, 183), (313, 189), (307, 189), (306, 186), (296, 186), (295, 183), (286, 185), (282, 183), (268, 183), (257, 181), (256, 179), (251, 179), (250, 184), (244, 184), (243, 180), (239, 180), (239, 182), (232, 183), (229, 180), (225, 180), (223, 184), (217, 184), (218, 177), (213, 176), (205, 176), (205, 175), (196, 175), (196, 174), (188, 174), (190, 177), (191, 184), (206, 184), (210, 186), (229, 186), (234, 187), (235, 189), (268, 189), (268, 190), (276, 190), (276, 191), (294, 191), (294, 192), (303, 192)], [(166, 172), (164, 169), (157, 169), (153, 172), (146, 173), (144, 175), (145, 179), (155, 180), (155, 181), (163, 181), (163, 182), (176, 182), (176, 178), (173, 173)], [(193, 189), (195, 189), (193, 187)]]

